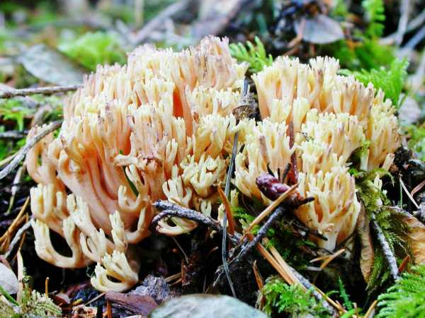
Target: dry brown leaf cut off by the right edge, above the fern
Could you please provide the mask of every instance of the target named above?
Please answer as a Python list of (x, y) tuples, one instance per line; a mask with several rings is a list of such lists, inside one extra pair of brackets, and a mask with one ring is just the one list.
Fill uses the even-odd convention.
[(425, 225), (414, 216), (405, 215), (403, 220), (410, 228), (407, 237), (412, 247), (414, 264), (423, 265), (425, 264)]

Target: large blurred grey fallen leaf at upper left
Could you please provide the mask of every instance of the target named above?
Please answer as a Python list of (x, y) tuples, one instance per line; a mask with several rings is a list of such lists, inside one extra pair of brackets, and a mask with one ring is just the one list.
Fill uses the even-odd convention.
[(81, 66), (46, 45), (30, 47), (18, 61), (36, 78), (57, 85), (79, 84), (85, 73)]

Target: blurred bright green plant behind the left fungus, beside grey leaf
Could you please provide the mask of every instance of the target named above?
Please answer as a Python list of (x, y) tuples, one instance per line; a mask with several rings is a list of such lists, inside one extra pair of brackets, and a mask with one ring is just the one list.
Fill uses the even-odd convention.
[(85, 33), (73, 41), (59, 45), (62, 53), (87, 69), (96, 70), (98, 64), (124, 64), (125, 52), (109, 33)]

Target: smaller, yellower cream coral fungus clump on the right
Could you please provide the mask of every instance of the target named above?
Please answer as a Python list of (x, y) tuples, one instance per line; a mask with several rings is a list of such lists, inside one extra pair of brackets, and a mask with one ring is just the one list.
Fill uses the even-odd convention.
[(314, 198), (297, 209), (297, 217), (326, 237), (315, 240), (329, 250), (351, 235), (361, 208), (348, 172), (354, 151), (368, 147), (360, 158), (362, 170), (388, 170), (399, 146), (391, 101), (372, 84), (365, 87), (338, 70), (338, 61), (328, 57), (309, 64), (278, 57), (253, 76), (263, 120), (245, 125), (250, 130), (234, 180), (243, 194), (269, 204), (255, 179), (269, 170), (279, 177), (295, 152), (298, 192)]

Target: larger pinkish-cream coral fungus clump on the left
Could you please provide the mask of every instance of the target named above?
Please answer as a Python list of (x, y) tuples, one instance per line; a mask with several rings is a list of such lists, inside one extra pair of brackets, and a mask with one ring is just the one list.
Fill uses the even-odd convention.
[[(241, 127), (232, 110), (246, 68), (217, 37), (182, 52), (143, 46), (126, 66), (98, 66), (67, 101), (60, 134), (42, 139), (26, 158), (38, 183), (30, 192), (38, 256), (63, 268), (97, 262), (91, 283), (98, 290), (137, 283), (132, 245), (149, 235), (152, 202), (210, 213)], [(196, 227), (173, 221), (160, 231)], [(70, 256), (53, 247), (50, 230)]]

